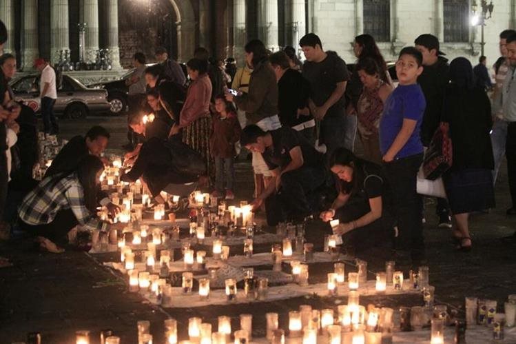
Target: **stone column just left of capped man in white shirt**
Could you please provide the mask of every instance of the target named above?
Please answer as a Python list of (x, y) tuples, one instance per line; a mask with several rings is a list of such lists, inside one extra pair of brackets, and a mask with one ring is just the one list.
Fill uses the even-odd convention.
[(23, 40), (21, 41), (21, 68), (34, 69), (38, 49), (38, 0), (23, 0)]

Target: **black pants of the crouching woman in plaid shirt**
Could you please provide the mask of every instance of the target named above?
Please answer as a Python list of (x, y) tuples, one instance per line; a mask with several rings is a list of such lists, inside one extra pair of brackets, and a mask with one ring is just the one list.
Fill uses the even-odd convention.
[(29, 225), (21, 219), (19, 221), (21, 230), (25, 230), (25, 232), (32, 236), (43, 236), (58, 245), (68, 243), (68, 232), (79, 224), (74, 212), (70, 209), (59, 211), (54, 221), (45, 225)]

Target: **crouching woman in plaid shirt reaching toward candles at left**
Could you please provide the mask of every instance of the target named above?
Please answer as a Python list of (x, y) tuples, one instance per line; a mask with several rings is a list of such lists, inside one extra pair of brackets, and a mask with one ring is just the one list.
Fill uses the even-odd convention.
[(109, 224), (96, 214), (96, 194), (102, 161), (86, 156), (75, 171), (47, 176), (32, 190), (19, 208), (21, 227), (37, 237), (41, 249), (63, 252), (56, 243), (66, 243), (66, 234), (76, 225), (88, 230), (108, 230)]

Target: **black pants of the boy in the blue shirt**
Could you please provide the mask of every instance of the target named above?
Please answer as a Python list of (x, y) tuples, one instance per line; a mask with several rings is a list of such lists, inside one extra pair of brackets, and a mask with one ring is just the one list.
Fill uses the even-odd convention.
[(423, 154), (384, 163), (382, 169), (393, 194), (393, 215), (398, 225), (396, 250), (424, 250), (422, 199), (416, 192), (417, 170)]

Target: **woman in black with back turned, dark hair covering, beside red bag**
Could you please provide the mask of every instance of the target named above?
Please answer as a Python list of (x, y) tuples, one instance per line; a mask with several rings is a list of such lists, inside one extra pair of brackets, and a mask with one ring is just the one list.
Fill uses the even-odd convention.
[(453, 164), (443, 174), (446, 196), (455, 220), (457, 250), (471, 250), (468, 216), (495, 206), (491, 103), (475, 83), (471, 63), (457, 57), (450, 63), (451, 83), (444, 94), (444, 121), (450, 125)]

